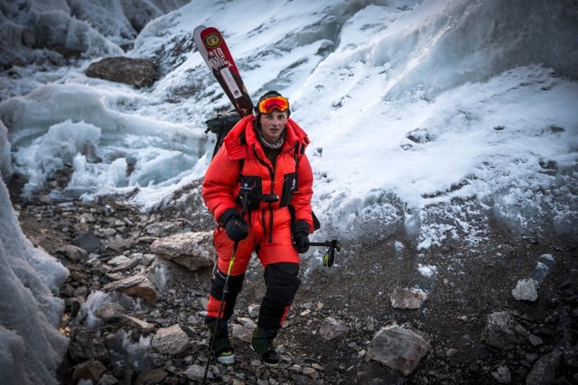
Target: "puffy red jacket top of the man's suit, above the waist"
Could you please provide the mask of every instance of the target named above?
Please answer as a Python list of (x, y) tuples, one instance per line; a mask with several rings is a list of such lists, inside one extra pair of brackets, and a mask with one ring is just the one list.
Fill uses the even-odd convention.
[(294, 220), (305, 220), (312, 233), (313, 177), (305, 155), (305, 147), (309, 144), (307, 134), (289, 118), (285, 124), (283, 147), (273, 165), (256, 137), (255, 121), (253, 115), (241, 119), (211, 160), (202, 185), (205, 204), (219, 221), (220, 215), (229, 208), (238, 207), (240, 211), (241, 187), (243, 191), (250, 189), (253, 196), (275, 194), (279, 197), (275, 203), (253, 201), (251, 209), (269, 208), (274, 214), (292, 206)]

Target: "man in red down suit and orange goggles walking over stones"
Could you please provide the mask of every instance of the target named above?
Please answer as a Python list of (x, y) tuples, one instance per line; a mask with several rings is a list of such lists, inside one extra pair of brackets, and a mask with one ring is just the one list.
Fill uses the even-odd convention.
[[(305, 155), (309, 139), (290, 114), (289, 101), (281, 94), (269, 91), (262, 96), (254, 114), (228, 133), (202, 185), (205, 204), (219, 224), (214, 232), (218, 262), (205, 322), (211, 341), (214, 336), (213, 351), (223, 364), (235, 361), (228, 319), (252, 252), (263, 265), (266, 293), (251, 346), (268, 365), (279, 362), (273, 340), (301, 284), (299, 253), (309, 249), (313, 231), (312, 169)], [(235, 243), (238, 248), (219, 320)]]

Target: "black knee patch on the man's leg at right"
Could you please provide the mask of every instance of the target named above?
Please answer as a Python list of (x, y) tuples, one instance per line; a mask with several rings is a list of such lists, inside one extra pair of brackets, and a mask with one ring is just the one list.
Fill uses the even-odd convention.
[(266, 299), (280, 305), (291, 305), (297, 289), (301, 286), (299, 264), (291, 262), (272, 263), (265, 270)]

